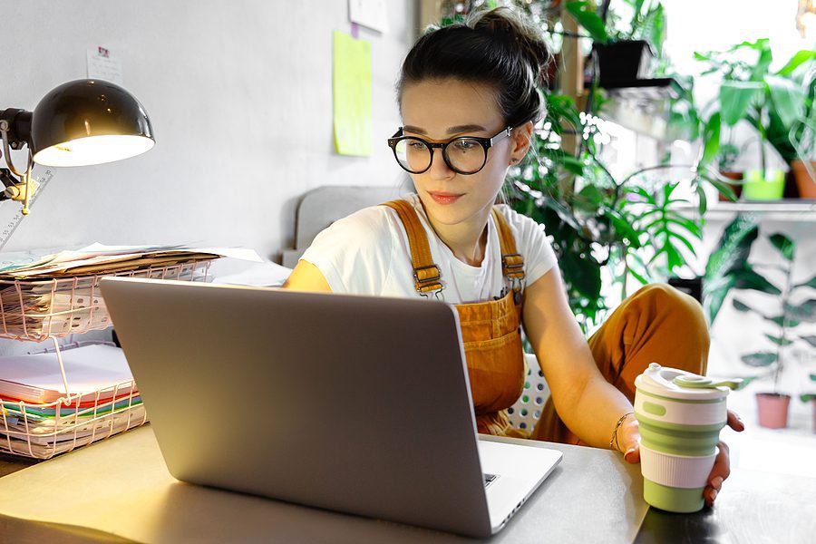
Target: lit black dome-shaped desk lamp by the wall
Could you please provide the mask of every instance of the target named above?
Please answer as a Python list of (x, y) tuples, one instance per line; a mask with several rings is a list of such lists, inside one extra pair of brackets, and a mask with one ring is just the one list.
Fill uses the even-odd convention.
[[(0, 199), (23, 201), (27, 215), (37, 189), (34, 162), (44, 166), (85, 166), (127, 159), (150, 150), (151, 120), (141, 103), (119, 85), (83, 79), (63, 83), (26, 112), (0, 111), (0, 137), (8, 170), (0, 169), (5, 192)], [(23, 171), (15, 169), (9, 149), (28, 145)], [(17, 176), (18, 179), (12, 175)]]

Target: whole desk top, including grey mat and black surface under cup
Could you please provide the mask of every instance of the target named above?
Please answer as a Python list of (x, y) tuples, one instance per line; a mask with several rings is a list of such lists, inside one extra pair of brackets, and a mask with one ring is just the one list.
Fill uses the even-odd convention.
[[(564, 460), (491, 542), (814, 541), (816, 479), (738, 470), (714, 509), (646, 511), (638, 466), (604, 450), (546, 445)], [(180, 483), (150, 426), (0, 478), (0, 535), (20, 544), (468, 540)]]

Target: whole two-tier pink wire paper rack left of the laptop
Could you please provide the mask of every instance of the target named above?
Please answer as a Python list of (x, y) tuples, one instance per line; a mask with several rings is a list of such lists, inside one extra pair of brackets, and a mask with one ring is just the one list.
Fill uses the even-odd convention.
[(57, 338), (112, 325), (98, 289), (101, 277), (207, 281), (211, 260), (83, 277), (0, 280), (0, 338), (53, 340), (53, 348), (44, 351), (56, 353), (65, 391), (63, 397), (52, 403), (0, 397), (0, 452), (50, 459), (147, 423), (147, 413), (132, 380), (110, 384), (92, 393), (70, 393), (61, 351), (94, 343), (61, 346)]

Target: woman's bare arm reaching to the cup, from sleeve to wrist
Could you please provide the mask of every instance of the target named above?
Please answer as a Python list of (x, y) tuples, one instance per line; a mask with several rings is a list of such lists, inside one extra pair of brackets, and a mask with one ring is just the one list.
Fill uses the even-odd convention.
[[(617, 421), (632, 412), (632, 405), (598, 371), (569, 309), (558, 267), (525, 288), (523, 317), (559, 417), (581, 441), (608, 448)], [(627, 442), (619, 441), (621, 447)]]

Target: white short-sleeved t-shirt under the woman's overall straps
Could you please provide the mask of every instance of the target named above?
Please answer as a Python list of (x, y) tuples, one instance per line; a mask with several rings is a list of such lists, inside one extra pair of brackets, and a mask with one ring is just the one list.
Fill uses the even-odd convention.
[[(481, 266), (473, 267), (453, 256), (431, 228), (415, 194), (405, 197), (423, 224), (433, 262), (440, 267), (444, 289), (440, 295), (451, 304), (483, 302), (510, 287), (501, 274), (499, 233), (491, 215)], [(544, 227), (510, 207), (500, 205), (507, 218), (516, 249), (524, 257), (525, 283), (530, 285), (556, 265), (555, 252)], [(385, 206), (361, 209), (335, 221), (318, 234), (303, 254), (315, 265), (335, 293), (369, 296), (420, 297), (413, 281), (408, 236), (396, 211)]]

